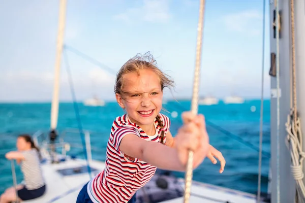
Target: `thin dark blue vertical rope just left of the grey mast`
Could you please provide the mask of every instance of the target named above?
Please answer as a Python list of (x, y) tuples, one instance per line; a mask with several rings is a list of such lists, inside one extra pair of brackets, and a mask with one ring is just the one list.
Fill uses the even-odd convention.
[(262, 86), (261, 86), (261, 108), (259, 124), (259, 155), (258, 155), (258, 183), (257, 183), (257, 202), (260, 202), (261, 176), (262, 176), (262, 148), (263, 148), (263, 115), (264, 115), (264, 62), (265, 62), (265, 17), (266, 1), (263, 0), (263, 40), (262, 40)]

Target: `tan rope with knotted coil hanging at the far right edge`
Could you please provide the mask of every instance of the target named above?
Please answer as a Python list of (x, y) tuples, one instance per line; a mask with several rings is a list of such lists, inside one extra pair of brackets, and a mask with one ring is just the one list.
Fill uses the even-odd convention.
[[(305, 185), (302, 181), (304, 174), (302, 170), (303, 160), (305, 153), (302, 151), (302, 131), (300, 126), (300, 119), (297, 115), (297, 98), (296, 98), (296, 70), (295, 70), (295, 38), (294, 38), (294, 0), (290, 1), (290, 25), (291, 25), (291, 82), (292, 82), (292, 95), (291, 96), (291, 111), (287, 117), (286, 131), (288, 133), (286, 144), (290, 150), (291, 155), (291, 173), (296, 181), (296, 198), (304, 202), (305, 198)], [(290, 83), (291, 86), (291, 83)]]

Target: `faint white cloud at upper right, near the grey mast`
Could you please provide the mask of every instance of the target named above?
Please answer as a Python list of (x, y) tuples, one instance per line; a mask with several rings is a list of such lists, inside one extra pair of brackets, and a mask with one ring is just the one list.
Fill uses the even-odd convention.
[(262, 27), (262, 14), (256, 10), (228, 14), (221, 20), (228, 30), (250, 35), (258, 35)]

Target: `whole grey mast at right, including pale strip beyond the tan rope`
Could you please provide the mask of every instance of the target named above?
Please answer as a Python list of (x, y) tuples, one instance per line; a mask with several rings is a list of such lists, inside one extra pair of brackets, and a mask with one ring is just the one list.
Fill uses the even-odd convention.
[[(295, 70), (296, 70), (296, 96), (297, 96), (297, 112), (300, 116), (301, 128), (305, 128), (305, 92), (302, 89), (305, 86), (305, 3), (303, 0), (294, 0), (295, 14)], [(276, 24), (276, 4), (279, 4), (280, 13), (280, 39), (279, 53), (277, 53), (277, 40), (273, 24)], [(287, 116), (290, 115), (292, 105), (292, 34), (291, 34), (291, 0), (273, 0), (270, 1), (270, 52), (271, 52), (271, 68), (269, 75), (271, 76), (271, 100), (270, 100), (270, 127), (271, 127), (271, 202), (295, 202), (296, 181), (293, 178), (291, 165), (291, 155), (285, 142), (288, 132), (285, 123)], [(279, 56), (280, 65), (280, 91), (277, 91), (277, 76), (275, 75), (275, 67), (277, 64), (276, 57)], [(273, 68), (272, 68), (273, 67)], [(277, 118), (277, 99), (279, 96), (280, 113), (279, 113), (279, 133)], [(302, 139), (305, 139), (304, 137)], [(305, 148), (304, 142), (302, 143)], [(303, 167), (304, 172), (304, 167)], [(277, 177), (277, 175), (279, 175)], [(300, 200), (300, 199), (299, 199)], [(302, 201), (300, 201), (302, 202)]]

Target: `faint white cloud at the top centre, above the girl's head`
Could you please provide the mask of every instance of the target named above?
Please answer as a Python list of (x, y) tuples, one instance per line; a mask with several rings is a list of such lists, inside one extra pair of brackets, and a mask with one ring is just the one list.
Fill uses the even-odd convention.
[(166, 23), (171, 18), (169, 0), (143, 0), (141, 6), (129, 8), (113, 18), (127, 23), (139, 21)]

